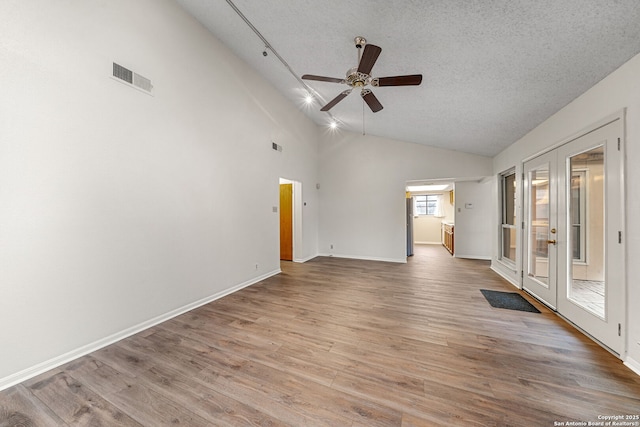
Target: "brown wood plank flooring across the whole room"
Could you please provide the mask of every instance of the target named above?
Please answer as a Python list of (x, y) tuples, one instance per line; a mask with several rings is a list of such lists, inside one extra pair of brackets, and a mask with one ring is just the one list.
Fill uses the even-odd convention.
[(553, 426), (640, 377), (485, 261), (319, 257), (0, 392), (0, 426)]

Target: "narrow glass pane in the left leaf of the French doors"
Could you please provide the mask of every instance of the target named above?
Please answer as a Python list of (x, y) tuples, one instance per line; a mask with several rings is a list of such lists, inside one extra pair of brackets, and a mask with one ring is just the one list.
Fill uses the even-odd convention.
[(529, 173), (529, 271), (530, 277), (549, 284), (549, 166)]

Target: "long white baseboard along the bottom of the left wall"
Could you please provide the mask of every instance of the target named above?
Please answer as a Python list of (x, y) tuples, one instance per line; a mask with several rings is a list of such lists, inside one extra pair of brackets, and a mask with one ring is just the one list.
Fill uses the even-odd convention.
[(5, 390), (9, 387), (12, 387), (16, 384), (20, 384), (23, 381), (26, 381), (30, 378), (33, 378), (37, 375), (40, 375), (44, 372), (47, 372), (51, 369), (57, 368), (58, 366), (64, 365), (65, 363), (71, 362), (72, 360), (75, 360), (79, 357), (85, 356), (89, 353), (92, 353), (94, 351), (100, 350), (103, 347), (106, 347), (108, 345), (111, 345), (113, 343), (116, 343), (122, 339), (125, 339), (127, 337), (130, 337), (131, 335), (135, 335), (139, 332), (144, 331), (145, 329), (149, 329), (152, 326), (158, 325), (162, 322), (166, 322), (169, 319), (172, 319), (176, 316), (179, 316), (181, 314), (184, 314), (188, 311), (191, 311), (195, 308), (198, 308), (200, 306), (203, 306), (205, 304), (208, 304), (212, 301), (215, 301), (217, 299), (220, 299), (224, 296), (227, 296), (229, 294), (232, 294), (234, 292), (237, 292), (243, 288), (249, 287), (251, 285), (254, 285), (264, 279), (267, 279), (271, 276), (275, 276), (276, 274), (281, 273), (281, 270), (278, 268), (276, 270), (270, 271), (268, 273), (265, 273), (261, 276), (255, 277), (251, 280), (248, 280), (246, 282), (240, 283), (238, 285), (232, 286), (228, 289), (225, 289), (223, 291), (217, 292), (213, 295), (210, 295), (208, 297), (202, 298), (198, 301), (189, 303), (187, 305), (184, 305), (182, 307), (176, 308), (175, 310), (171, 310), (167, 313), (161, 314), (159, 316), (156, 316), (152, 319), (149, 319), (147, 321), (144, 321), (142, 323), (139, 323), (135, 326), (132, 326), (130, 328), (124, 329), (120, 332), (116, 332), (115, 334), (109, 335), (105, 338), (99, 339), (97, 341), (94, 341), (90, 344), (84, 345), (82, 347), (79, 347), (75, 350), (71, 350), (65, 354), (62, 354), (60, 356), (54, 357), (52, 359), (49, 359), (47, 361), (44, 361), (42, 363), (38, 363), (37, 365), (31, 366), (29, 368), (23, 369), (22, 371), (16, 372), (15, 374), (11, 374), (7, 377), (4, 378), (0, 378), (0, 391)]

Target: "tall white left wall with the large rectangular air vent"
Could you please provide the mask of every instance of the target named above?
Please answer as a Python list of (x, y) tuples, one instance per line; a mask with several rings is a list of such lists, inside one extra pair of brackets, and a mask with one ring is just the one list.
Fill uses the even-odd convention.
[(0, 16), (0, 388), (276, 273), (280, 176), (317, 253), (317, 127), (174, 2)]

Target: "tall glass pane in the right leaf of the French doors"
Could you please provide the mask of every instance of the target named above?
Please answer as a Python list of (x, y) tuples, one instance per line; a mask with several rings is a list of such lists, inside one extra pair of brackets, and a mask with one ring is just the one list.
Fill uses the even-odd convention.
[(605, 316), (605, 228), (604, 228), (604, 147), (596, 147), (569, 158), (571, 169), (567, 241), (571, 281), (567, 297), (604, 318)]

